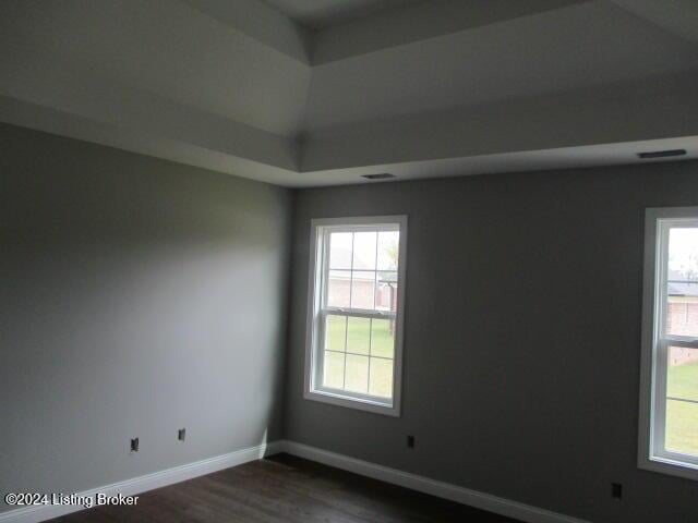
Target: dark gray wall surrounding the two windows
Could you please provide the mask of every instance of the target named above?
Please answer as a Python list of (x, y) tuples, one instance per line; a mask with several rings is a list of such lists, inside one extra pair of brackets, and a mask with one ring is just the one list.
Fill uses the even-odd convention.
[[(287, 438), (597, 523), (698, 520), (698, 484), (636, 466), (643, 209), (698, 205), (698, 163), (296, 202)], [(310, 220), (381, 214), (410, 220), (400, 418), (302, 399)]]

